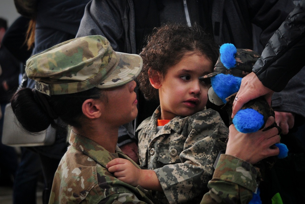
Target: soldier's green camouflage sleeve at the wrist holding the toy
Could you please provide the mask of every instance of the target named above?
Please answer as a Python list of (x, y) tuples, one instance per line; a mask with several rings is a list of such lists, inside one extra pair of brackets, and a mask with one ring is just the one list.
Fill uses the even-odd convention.
[(250, 163), (227, 154), (221, 154), (215, 168), (210, 189), (200, 204), (246, 204), (257, 187), (258, 171)]

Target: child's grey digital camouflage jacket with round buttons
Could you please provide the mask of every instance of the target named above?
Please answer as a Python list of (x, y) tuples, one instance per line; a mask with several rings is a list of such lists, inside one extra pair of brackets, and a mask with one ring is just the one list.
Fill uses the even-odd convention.
[(160, 106), (138, 127), (142, 168), (153, 169), (164, 193), (153, 192), (155, 203), (199, 203), (208, 192), (218, 153), (225, 149), (228, 128), (218, 112), (208, 109), (176, 116), (158, 132)]

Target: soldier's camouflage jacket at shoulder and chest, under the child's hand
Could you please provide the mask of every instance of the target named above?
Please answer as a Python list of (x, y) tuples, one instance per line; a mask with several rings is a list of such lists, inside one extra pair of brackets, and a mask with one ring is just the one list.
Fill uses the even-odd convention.
[(150, 191), (121, 182), (107, 170), (106, 164), (114, 158), (132, 161), (118, 147), (116, 153), (109, 153), (73, 131), (69, 142), (54, 175), (49, 204), (152, 203)]

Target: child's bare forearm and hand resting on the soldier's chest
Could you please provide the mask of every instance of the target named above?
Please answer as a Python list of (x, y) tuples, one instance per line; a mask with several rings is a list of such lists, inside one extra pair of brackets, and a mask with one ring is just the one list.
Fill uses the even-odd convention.
[(155, 171), (138, 169), (127, 159), (113, 159), (106, 165), (106, 168), (117, 179), (129, 185), (135, 187), (140, 185), (147, 190), (163, 191)]

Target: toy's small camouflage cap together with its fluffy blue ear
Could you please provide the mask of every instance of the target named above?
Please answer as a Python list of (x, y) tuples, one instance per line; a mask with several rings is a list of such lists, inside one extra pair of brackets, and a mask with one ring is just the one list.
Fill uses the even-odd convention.
[(259, 57), (253, 50), (236, 49), (233, 44), (223, 44), (213, 73), (206, 74), (199, 80), (209, 82), (211, 77), (221, 73), (243, 78), (252, 72), (252, 67)]

